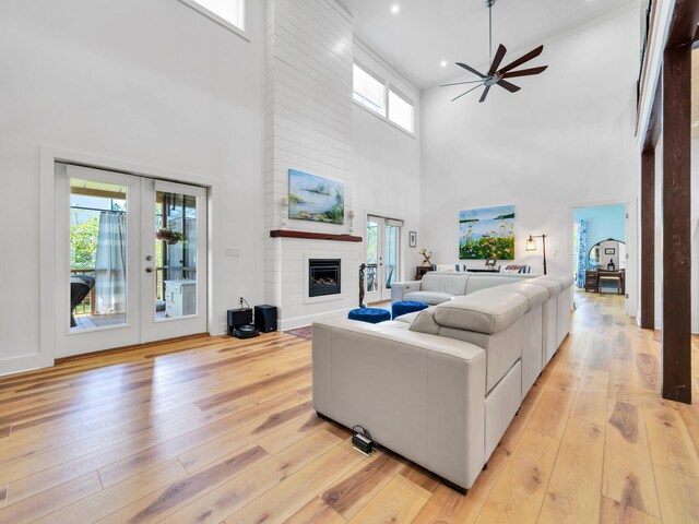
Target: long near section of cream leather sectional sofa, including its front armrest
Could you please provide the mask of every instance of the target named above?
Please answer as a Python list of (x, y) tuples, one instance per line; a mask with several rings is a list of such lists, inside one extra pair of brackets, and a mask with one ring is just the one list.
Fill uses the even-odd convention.
[(469, 489), (570, 324), (572, 277), (508, 282), (379, 324), (316, 322), (316, 410)]

